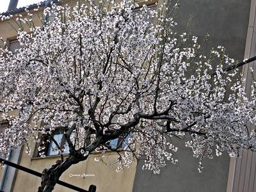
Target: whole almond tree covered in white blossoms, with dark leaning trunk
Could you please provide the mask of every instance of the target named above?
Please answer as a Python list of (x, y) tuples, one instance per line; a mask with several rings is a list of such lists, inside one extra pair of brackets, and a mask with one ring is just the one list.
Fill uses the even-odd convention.
[[(43, 27), (28, 11), (1, 16), (15, 20), (21, 46), (0, 48), (0, 111), (10, 124), (0, 135), (1, 152), (26, 145), (29, 153), (38, 133), (56, 129), (68, 143), (68, 156), (45, 168), (38, 191), (52, 191), (65, 170), (99, 148), (116, 151), (118, 171), (143, 159), (154, 173), (166, 161), (177, 163), (173, 137), (186, 136), (199, 170), (205, 157), (256, 149), (255, 131), (247, 127), (256, 120), (255, 83), (246, 95), (237, 70), (224, 70), (234, 65), (224, 48), (202, 55), (196, 36), (175, 33), (177, 5), (167, 7), (132, 0), (52, 4)], [(15, 109), (19, 116), (9, 116)], [(122, 150), (109, 147), (116, 138), (126, 143)], [(44, 147), (38, 150), (44, 157)]]

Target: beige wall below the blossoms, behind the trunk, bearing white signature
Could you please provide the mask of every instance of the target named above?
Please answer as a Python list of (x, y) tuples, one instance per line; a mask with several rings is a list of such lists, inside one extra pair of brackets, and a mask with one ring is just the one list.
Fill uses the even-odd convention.
[[(34, 142), (33, 142), (34, 143)], [(33, 146), (33, 144), (32, 144)], [(34, 145), (35, 146), (35, 145)], [(54, 164), (60, 157), (46, 157), (44, 159), (33, 159), (32, 154), (26, 154), (26, 148), (23, 148), (20, 165), (26, 166), (37, 172), (41, 172)], [(69, 184), (89, 189), (91, 184), (97, 186), (97, 192), (119, 192), (120, 189), (124, 192), (132, 191), (134, 176), (136, 172), (136, 163), (131, 164), (130, 168), (125, 168), (122, 172), (116, 173), (118, 164), (115, 163), (117, 159), (116, 153), (109, 152), (102, 161), (95, 161), (95, 157), (100, 158), (101, 154), (91, 154), (90, 157), (83, 162), (72, 165), (66, 172), (61, 175), (60, 180)], [(85, 177), (83, 177), (85, 175)], [(37, 191), (40, 186), (41, 179), (26, 172), (18, 171), (14, 183), (13, 191)], [(72, 189), (56, 185), (54, 192), (72, 191)]]

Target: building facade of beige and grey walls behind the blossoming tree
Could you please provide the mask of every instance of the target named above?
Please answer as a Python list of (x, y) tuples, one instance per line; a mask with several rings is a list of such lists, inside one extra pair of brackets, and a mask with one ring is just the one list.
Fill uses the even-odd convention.
[[(74, 2), (65, 1), (65, 3)], [(156, 3), (156, 1), (150, 1), (150, 3)], [(41, 9), (45, 4), (42, 4)], [(32, 9), (33, 5), (30, 7)], [(255, 56), (255, 10), (256, 0), (180, 0), (177, 31), (185, 31), (189, 17), (193, 15), (194, 19), (189, 31), (199, 36), (201, 40), (207, 33), (210, 35), (205, 44), (205, 54), (210, 52), (211, 47), (223, 45), (231, 58), (242, 61), (244, 58)], [(24, 13), (24, 8), (13, 8), (5, 14), (8, 13)], [(33, 19), (40, 25), (39, 20)], [(9, 42), (10, 49), (19, 46), (15, 42), (16, 35), (15, 30), (8, 22), (0, 20), (0, 36)], [(248, 67), (253, 67), (253, 63), (240, 70), (246, 77), (245, 86), (250, 93), (252, 77), (248, 73)], [(19, 115), (19, 111), (13, 113), (15, 113), (13, 115)], [(97, 192), (256, 191), (254, 153), (244, 151), (239, 159), (230, 159), (227, 154), (207, 159), (204, 162), (204, 172), (198, 173), (196, 170), (198, 159), (193, 158), (192, 152), (184, 147), (184, 141), (173, 140), (173, 142), (179, 147), (179, 151), (174, 154), (175, 158), (179, 159), (179, 163), (175, 165), (167, 163), (166, 168), (163, 168), (159, 175), (143, 171), (141, 169), (142, 162), (138, 162), (138, 164), (134, 162), (130, 168), (116, 173), (117, 165), (108, 165), (115, 161), (116, 154), (108, 152), (102, 159), (103, 162), (95, 161), (95, 158), (101, 155), (100, 153), (93, 153), (86, 161), (69, 168), (61, 175), (60, 180), (86, 190), (93, 184), (97, 186)], [(10, 161), (42, 172), (44, 168), (60, 159), (57, 154), (50, 154), (45, 158), (38, 157), (34, 141), (31, 141), (31, 148), (33, 151), (29, 155), (26, 154), (26, 147), (13, 149), (10, 153)], [(41, 181), (35, 175), (10, 166), (5, 166), (0, 170), (0, 179), (0, 190), (6, 192), (36, 191)], [(57, 184), (54, 191), (70, 191), (70, 189)]]

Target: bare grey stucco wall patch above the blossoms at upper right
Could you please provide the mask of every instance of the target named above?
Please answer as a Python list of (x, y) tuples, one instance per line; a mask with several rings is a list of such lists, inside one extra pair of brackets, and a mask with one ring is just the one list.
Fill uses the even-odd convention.
[[(175, 2), (176, 0), (172, 0)], [(189, 31), (199, 37), (209, 33), (205, 53), (223, 45), (228, 55), (243, 60), (250, 14), (250, 0), (180, 0), (177, 31)]]

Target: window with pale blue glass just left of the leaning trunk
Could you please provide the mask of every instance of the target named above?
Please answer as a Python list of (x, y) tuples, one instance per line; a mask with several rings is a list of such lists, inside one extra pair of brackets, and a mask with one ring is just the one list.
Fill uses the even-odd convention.
[[(40, 157), (40, 156), (60, 155), (60, 149), (58, 148), (58, 145), (62, 150), (62, 154), (68, 154), (69, 147), (68, 147), (67, 140), (65, 140), (65, 136), (63, 132), (64, 132), (63, 129), (56, 129), (55, 131), (52, 132), (51, 136), (49, 134), (42, 135), (40, 145), (38, 146), (39, 150), (36, 156)], [(73, 138), (74, 136), (75, 136), (75, 132), (72, 132), (70, 138)], [(52, 140), (52, 138), (54, 140)], [(56, 141), (58, 145), (56, 145), (54, 141)]]

